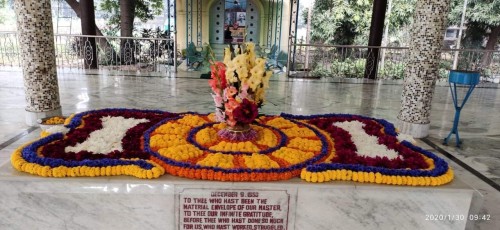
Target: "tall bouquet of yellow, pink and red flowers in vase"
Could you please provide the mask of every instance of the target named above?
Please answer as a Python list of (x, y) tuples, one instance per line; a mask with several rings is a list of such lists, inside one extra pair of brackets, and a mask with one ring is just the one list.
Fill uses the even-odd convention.
[(265, 63), (264, 58), (256, 57), (255, 44), (246, 43), (234, 52), (226, 48), (224, 62), (210, 66), (215, 118), (227, 124), (227, 128), (219, 132), (223, 139), (246, 141), (256, 137), (257, 132), (250, 124), (264, 104), (272, 76), (272, 71), (266, 71)]

